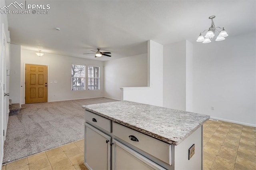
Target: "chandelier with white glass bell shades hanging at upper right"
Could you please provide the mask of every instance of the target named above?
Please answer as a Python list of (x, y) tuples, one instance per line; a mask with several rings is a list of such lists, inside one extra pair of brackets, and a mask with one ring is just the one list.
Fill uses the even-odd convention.
[[(227, 32), (224, 30), (224, 27), (223, 28), (215, 27), (214, 22), (213, 22), (213, 18), (215, 18), (214, 15), (209, 17), (209, 19), (212, 20), (212, 24), (211, 24), (210, 28), (208, 29), (208, 32), (206, 33), (206, 35), (202, 36), (202, 33), (204, 33), (207, 30), (204, 30), (203, 32), (200, 32), (196, 42), (210, 43), (210, 42), (212, 42), (211, 40), (213, 39), (213, 37), (215, 36), (215, 34), (217, 32), (219, 32), (220, 34), (216, 38), (216, 40), (215, 40), (216, 42), (225, 40), (224, 37), (228, 36)], [(220, 28), (222, 30), (219, 31), (217, 28)]]

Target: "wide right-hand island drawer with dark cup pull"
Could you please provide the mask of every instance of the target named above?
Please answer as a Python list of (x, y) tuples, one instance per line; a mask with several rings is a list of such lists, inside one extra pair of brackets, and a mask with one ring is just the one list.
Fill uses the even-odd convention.
[[(117, 123), (113, 123), (113, 134), (114, 136), (128, 142), (129, 144), (132, 144), (136, 148), (143, 150), (144, 152), (162, 160), (163, 162), (170, 165), (172, 164), (172, 152), (170, 144)], [(135, 141), (136, 139), (138, 139), (138, 141)]]

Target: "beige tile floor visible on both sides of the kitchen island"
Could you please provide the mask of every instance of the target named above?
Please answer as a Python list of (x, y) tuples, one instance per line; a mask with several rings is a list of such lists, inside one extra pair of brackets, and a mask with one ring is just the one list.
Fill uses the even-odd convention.
[[(224, 121), (203, 126), (204, 170), (256, 170), (256, 128)], [(2, 170), (87, 170), (84, 140), (78, 140), (5, 166)]]

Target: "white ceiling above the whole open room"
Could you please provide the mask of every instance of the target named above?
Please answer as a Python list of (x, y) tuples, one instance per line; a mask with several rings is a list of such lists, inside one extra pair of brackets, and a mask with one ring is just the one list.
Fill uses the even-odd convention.
[[(6, 0), (6, 5), (11, 2)], [(26, 4), (50, 4), (49, 14), (8, 14), (11, 43), (101, 61), (147, 53), (147, 40), (196, 43), (199, 33), (210, 27), (212, 15), (215, 26), (224, 27), (230, 36), (256, 30), (256, 1), (26, 0)], [(83, 55), (98, 47), (112, 57)]]

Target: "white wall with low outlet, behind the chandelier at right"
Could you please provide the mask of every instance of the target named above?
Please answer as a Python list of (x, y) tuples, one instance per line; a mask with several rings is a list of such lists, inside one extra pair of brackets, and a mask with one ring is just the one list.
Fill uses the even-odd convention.
[(194, 44), (194, 112), (256, 126), (255, 47), (255, 32)]

